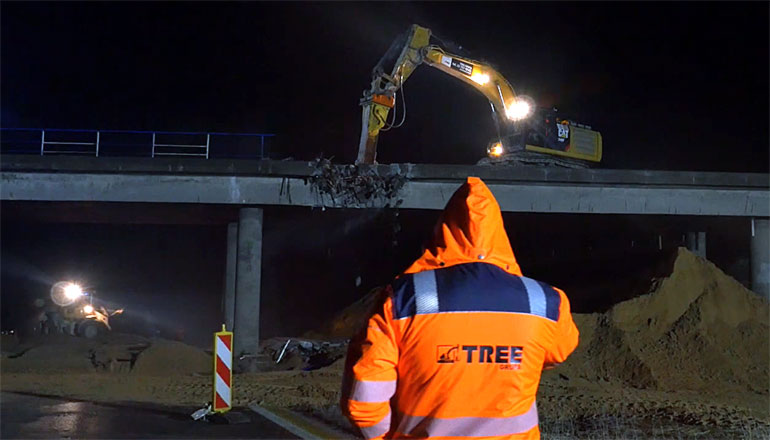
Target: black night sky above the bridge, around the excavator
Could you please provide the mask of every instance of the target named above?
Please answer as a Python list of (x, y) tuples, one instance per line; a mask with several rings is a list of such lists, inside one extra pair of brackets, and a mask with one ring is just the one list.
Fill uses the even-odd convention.
[[(605, 168), (768, 170), (768, 4), (2, 5), (2, 125), (267, 132), (351, 162), (371, 68), (411, 23), (600, 130)], [(475, 163), (486, 100), (430, 67), (379, 160)]]

